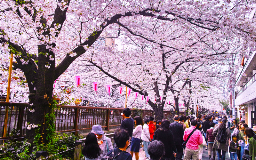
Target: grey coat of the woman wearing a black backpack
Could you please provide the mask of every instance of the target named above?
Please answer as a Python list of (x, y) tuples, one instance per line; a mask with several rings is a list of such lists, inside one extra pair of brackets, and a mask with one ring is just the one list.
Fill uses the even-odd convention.
[[(213, 148), (221, 149), (226, 152), (228, 152), (228, 140), (230, 138), (230, 131), (229, 128), (226, 129), (227, 132), (227, 141), (226, 143), (219, 143), (217, 138), (215, 138), (214, 143), (213, 143)], [(217, 137), (218, 133), (220, 133), (220, 125), (218, 125), (216, 128), (214, 128), (212, 135), (214, 137)]]

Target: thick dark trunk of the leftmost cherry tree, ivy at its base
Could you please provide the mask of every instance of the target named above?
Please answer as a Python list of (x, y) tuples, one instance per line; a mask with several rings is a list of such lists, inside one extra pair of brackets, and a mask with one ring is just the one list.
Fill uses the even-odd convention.
[[(32, 143), (35, 139), (36, 143), (46, 144), (51, 140), (53, 132), (55, 132), (55, 121), (52, 113), (55, 104), (52, 101), (55, 60), (50, 60), (50, 56), (54, 58), (54, 54), (46, 49), (46, 45), (38, 46), (38, 74), (37, 76), (26, 76), (29, 86), (29, 106), (26, 130), (26, 139)], [(50, 66), (50, 68), (46, 66)], [(32, 127), (38, 125), (38, 127)], [(39, 131), (37, 129), (39, 128)], [(36, 137), (35, 137), (36, 136)]]

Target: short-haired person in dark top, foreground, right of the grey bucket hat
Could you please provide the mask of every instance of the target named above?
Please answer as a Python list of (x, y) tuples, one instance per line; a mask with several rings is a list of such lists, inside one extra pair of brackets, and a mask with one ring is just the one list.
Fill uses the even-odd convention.
[(127, 147), (130, 145), (129, 133), (124, 129), (117, 129), (114, 132), (114, 140), (117, 148), (111, 149), (106, 159), (115, 157), (115, 160), (132, 160), (132, 155), (126, 152)]

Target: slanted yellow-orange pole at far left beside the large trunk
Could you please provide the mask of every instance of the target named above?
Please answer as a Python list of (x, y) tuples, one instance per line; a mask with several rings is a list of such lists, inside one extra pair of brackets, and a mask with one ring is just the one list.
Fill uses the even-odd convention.
[[(10, 58), (6, 102), (9, 102), (9, 98), (10, 98), (10, 86), (11, 86), (11, 78), (12, 78), (12, 58), (13, 58), (13, 53), (11, 53), (11, 58)], [(3, 137), (6, 137), (6, 132), (7, 132), (8, 109), (9, 109), (9, 107), (6, 106), (5, 107), (5, 115), (4, 115), (4, 134), (3, 134)]]

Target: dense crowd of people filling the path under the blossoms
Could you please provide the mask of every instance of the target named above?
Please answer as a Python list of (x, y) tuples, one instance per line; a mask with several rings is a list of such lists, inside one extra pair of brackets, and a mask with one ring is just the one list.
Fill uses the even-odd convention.
[[(226, 152), (233, 160), (255, 160), (256, 125), (249, 128), (225, 114), (175, 115), (173, 123), (167, 119), (156, 121), (153, 116), (132, 119), (131, 110), (124, 108), (120, 129), (114, 132), (114, 147), (100, 125), (94, 125), (82, 150), (86, 160), (139, 160), (140, 146), (146, 159), (202, 160), (203, 149), (209, 160), (225, 160)], [(134, 127), (135, 126), (135, 127)], [(142, 140), (142, 144), (141, 144)], [(130, 146), (130, 153), (126, 149)], [(248, 159), (249, 158), (249, 159)]]

